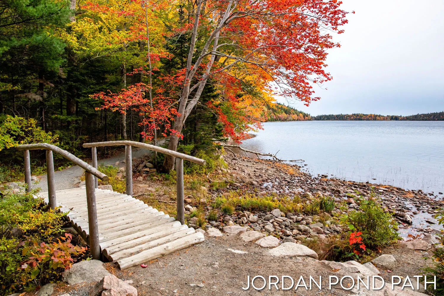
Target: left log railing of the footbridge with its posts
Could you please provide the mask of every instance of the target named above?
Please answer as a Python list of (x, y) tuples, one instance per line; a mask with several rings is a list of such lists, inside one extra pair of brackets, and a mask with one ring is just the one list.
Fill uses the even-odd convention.
[[(96, 167), (90, 166), (80, 158), (75, 157), (66, 150), (47, 143), (39, 144), (26, 144), (17, 146), (18, 150), (24, 150), (24, 169), (25, 169), (25, 182), (28, 184), (26, 191), (31, 191), (31, 160), (29, 157), (29, 150), (46, 150), (46, 171), (48, 179), (48, 205), (51, 209), (55, 209), (57, 206), (56, 201), (56, 182), (54, 179), (54, 159), (52, 152), (62, 155), (64, 158), (74, 162), (85, 170), (85, 185), (86, 185), (86, 198), (88, 207), (88, 224), (89, 224), (89, 246), (91, 248), (91, 255), (94, 259), (100, 259), (100, 245), (99, 245), (99, 226), (97, 222), (97, 206), (95, 203), (95, 184), (97, 184), (97, 178), (103, 181), (108, 180), (108, 176), (99, 172)], [(94, 158), (93, 158), (94, 164)], [(97, 164), (97, 159), (95, 159)]]

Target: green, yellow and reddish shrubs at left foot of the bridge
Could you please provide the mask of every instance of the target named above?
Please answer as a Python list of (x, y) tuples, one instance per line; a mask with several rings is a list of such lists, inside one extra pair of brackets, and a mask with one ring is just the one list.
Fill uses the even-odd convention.
[(0, 193), (0, 295), (59, 280), (85, 249), (62, 233), (64, 213), (46, 211), (30, 193)]

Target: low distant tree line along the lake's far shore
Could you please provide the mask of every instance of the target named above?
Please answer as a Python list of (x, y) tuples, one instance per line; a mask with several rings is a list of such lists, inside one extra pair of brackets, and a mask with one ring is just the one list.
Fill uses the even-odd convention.
[(420, 121), (438, 121), (444, 120), (444, 111), (424, 113), (408, 116), (398, 115), (379, 115), (379, 114), (329, 114), (329, 115), (317, 115), (311, 116), (312, 120), (420, 120)]

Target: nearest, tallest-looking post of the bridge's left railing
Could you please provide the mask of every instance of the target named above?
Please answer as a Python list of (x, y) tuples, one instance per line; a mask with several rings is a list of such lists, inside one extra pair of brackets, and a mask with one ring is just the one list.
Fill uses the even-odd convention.
[(99, 224), (95, 204), (95, 185), (93, 175), (85, 172), (86, 200), (88, 207), (89, 247), (92, 258), (100, 260)]

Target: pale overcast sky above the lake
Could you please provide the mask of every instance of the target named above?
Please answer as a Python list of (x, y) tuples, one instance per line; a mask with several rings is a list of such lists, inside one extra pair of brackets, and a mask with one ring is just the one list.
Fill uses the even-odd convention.
[(444, 0), (342, 1), (356, 14), (329, 51), (333, 80), (315, 86), (321, 100), (291, 105), (312, 115), (444, 111)]

